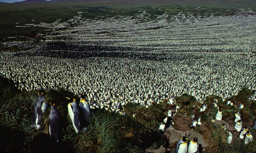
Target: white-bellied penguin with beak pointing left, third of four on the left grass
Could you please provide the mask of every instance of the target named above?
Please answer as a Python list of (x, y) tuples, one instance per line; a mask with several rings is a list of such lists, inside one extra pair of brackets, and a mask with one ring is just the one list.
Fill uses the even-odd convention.
[[(68, 97), (66, 98), (70, 99)], [(70, 102), (67, 105), (67, 108), (73, 127), (76, 130), (76, 133), (78, 133), (79, 130), (81, 130), (81, 110), (76, 99), (73, 99), (73, 102)]]

